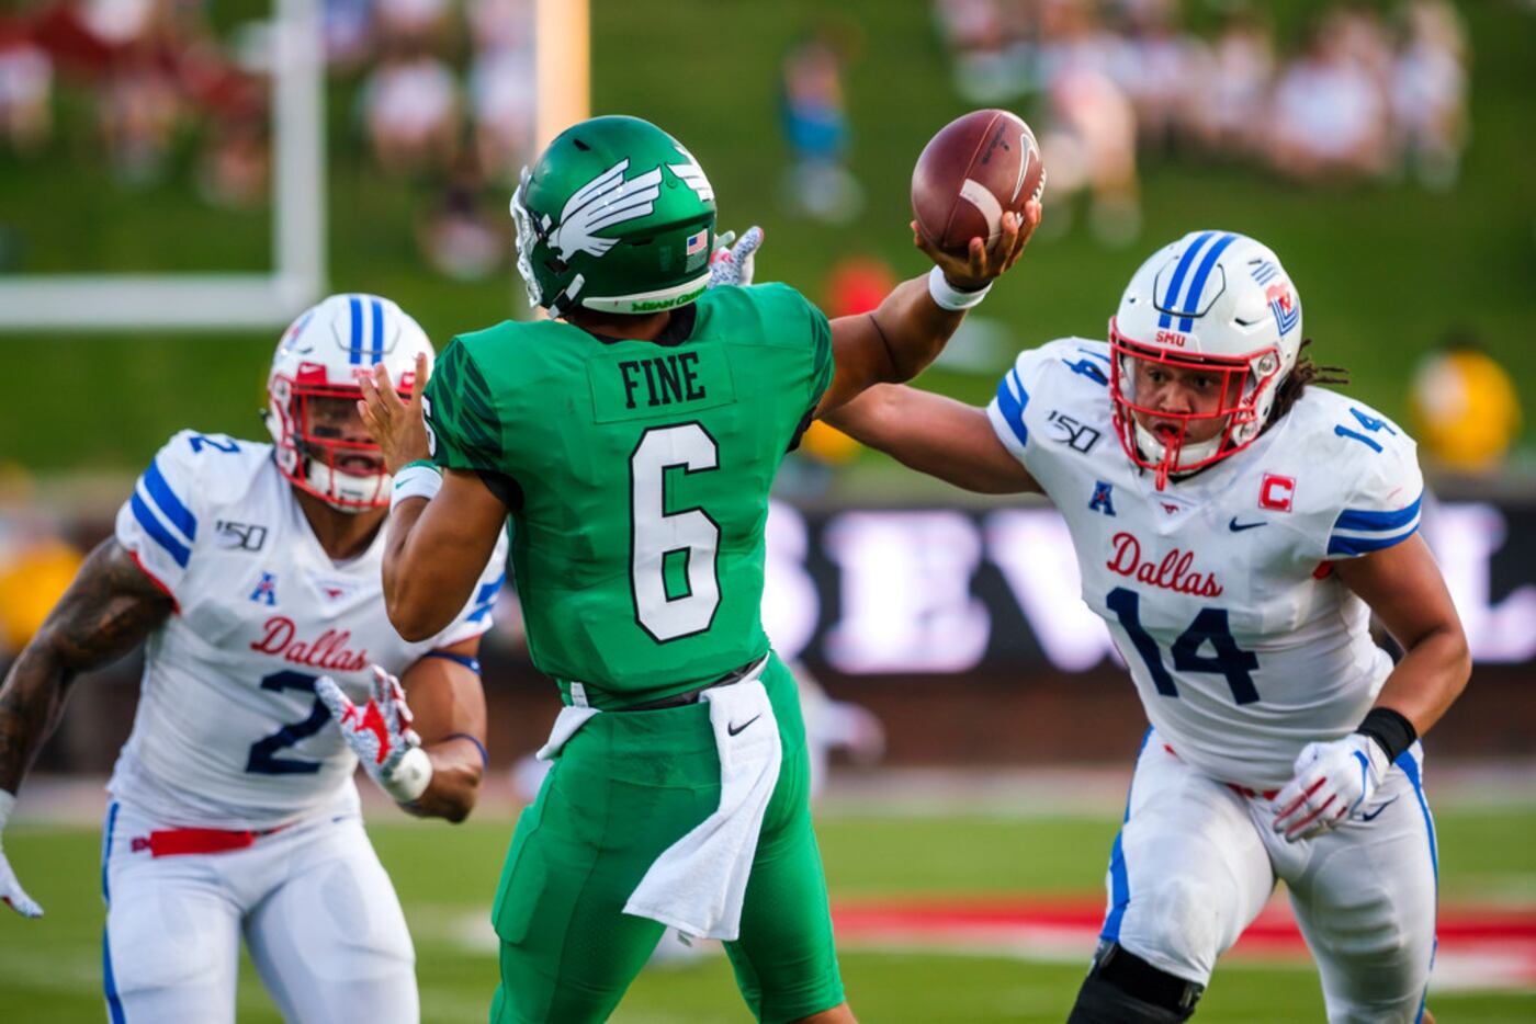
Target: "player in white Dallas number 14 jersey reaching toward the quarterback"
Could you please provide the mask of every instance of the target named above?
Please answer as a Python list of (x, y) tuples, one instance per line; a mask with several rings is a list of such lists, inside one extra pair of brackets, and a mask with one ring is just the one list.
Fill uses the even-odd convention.
[(1187, 1019), (1276, 878), (1330, 1021), (1424, 1015), (1436, 849), (1418, 737), (1470, 659), (1416, 533), (1413, 441), (1309, 388), (1303, 344), (1275, 253), (1193, 232), (1137, 270), (1107, 344), (1023, 353), (988, 408), (882, 387), (833, 418), (960, 487), (1051, 497), (1135, 680), (1152, 726), (1072, 1022)]

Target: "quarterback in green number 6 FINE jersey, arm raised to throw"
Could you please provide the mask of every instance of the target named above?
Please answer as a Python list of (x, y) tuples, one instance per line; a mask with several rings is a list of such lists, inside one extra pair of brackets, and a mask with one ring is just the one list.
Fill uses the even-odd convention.
[(814, 416), (938, 355), (1038, 203), (965, 256), (919, 236), (935, 270), (834, 321), (786, 286), (707, 289), (714, 192), (637, 118), (559, 135), (513, 215), (551, 319), (458, 336), (410, 402), (364, 385), (396, 471), (395, 628), (452, 619), (510, 519), (528, 648), (561, 689), (493, 909), (492, 1019), (605, 1019), (674, 926), (725, 941), (757, 1019), (851, 1021), (805, 726), (759, 614), (768, 490)]

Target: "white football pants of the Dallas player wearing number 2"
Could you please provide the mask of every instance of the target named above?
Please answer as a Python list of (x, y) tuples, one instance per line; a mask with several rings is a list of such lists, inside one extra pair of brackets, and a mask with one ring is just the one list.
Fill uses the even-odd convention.
[[(415, 1024), (415, 950), (355, 804), (246, 849), (155, 857), (170, 829), (108, 808), (101, 952), (112, 1024), (233, 1024), (240, 940), (284, 1019)], [(135, 841), (137, 840), (137, 841)]]

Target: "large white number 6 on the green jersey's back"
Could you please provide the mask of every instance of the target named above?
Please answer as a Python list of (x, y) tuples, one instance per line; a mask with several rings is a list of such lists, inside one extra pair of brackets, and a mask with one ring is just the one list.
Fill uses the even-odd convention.
[(668, 470), (717, 468), (719, 447), (699, 424), (651, 427), (630, 456), (630, 588), (634, 619), (657, 643), (703, 633), (720, 606), (719, 524), (702, 508), (667, 511)]

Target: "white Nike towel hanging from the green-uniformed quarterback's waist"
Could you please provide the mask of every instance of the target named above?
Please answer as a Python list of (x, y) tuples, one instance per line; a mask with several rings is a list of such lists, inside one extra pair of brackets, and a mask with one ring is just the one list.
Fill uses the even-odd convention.
[(720, 806), (656, 858), (625, 913), (694, 938), (740, 935), (746, 878), (783, 761), (779, 722), (759, 680), (763, 665), (739, 683), (703, 691), (720, 755)]

